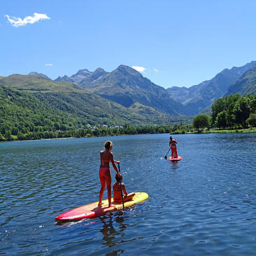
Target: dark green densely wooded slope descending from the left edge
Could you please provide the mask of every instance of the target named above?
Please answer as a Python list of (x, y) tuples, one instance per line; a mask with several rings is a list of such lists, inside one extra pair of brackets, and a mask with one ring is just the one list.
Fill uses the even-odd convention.
[(51, 131), (66, 131), (83, 125), (70, 113), (64, 113), (36, 97), (19, 90), (0, 85), (0, 136), (34, 132), (37, 138), (45, 138)]

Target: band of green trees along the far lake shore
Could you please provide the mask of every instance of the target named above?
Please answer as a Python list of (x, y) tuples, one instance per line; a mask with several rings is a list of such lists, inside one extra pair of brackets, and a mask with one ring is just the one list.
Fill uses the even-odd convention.
[[(0, 106), (3, 116), (10, 109)], [(229, 95), (216, 100), (211, 106), (211, 114), (200, 114), (191, 124), (176, 125), (107, 125), (92, 128), (90, 124), (76, 127), (71, 120), (55, 117), (55, 122), (43, 115), (35, 114), (24, 120), (17, 109), (15, 118), (0, 120), (0, 141), (22, 141), (49, 138), (84, 138), (94, 136), (118, 136), (130, 134), (191, 134), (191, 133), (227, 133), (256, 132), (256, 95)], [(45, 110), (47, 111), (47, 110)], [(22, 113), (24, 114), (24, 113)], [(50, 113), (53, 115), (53, 113)], [(20, 117), (20, 119), (19, 119)], [(63, 122), (65, 121), (65, 122)]]

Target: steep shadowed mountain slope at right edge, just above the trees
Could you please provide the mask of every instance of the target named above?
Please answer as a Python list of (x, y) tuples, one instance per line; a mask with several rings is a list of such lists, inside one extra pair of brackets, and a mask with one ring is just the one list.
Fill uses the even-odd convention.
[(225, 96), (236, 93), (241, 95), (256, 93), (256, 64), (244, 73), (236, 83), (229, 86)]

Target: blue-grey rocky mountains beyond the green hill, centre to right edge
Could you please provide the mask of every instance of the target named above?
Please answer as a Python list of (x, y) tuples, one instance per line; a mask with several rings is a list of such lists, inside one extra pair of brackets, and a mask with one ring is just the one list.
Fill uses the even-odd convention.
[[(234, 87), (234, 84), (245, 73), (250, 70), (253, 73), (255, 72), (255, 65), (256, 62), (253, 61), (244, 66), (224, 69), (211, 80), (206, 80), (199, 85), (188, 88), (173, 86), (164, 89), (164, 87), (155, 85), (148, 78), (144, 78), (141, 73), (125, 65), (118, 66), (112, 72), (106, 72), (101, 68), (94, 72), (83, 69), (68, 78), (80, 87), (118, 102), (127, 108), (139, 103), (169, 115), (193, 116), (198, 113), (208, 113), (211, 110), (211, 104), (216, 99), (225, 96), (229, 87)], [(77, 76), (80, 76), (80, 80), (76, 79)], [(57, 78), (57, 80), (66, 80), (66, 76)], [(246, 83), (245, 87), (252, 87), (253, 84), (255, 83), (252, 82), (250, 85)], [(248, 89), (247, 91), (256, 92), (255, 89)], [(171, 97), (167, 96), (166, 92)], [(243, 94), (242, 91), (239, 92), (236, 89), (232, 93)]]

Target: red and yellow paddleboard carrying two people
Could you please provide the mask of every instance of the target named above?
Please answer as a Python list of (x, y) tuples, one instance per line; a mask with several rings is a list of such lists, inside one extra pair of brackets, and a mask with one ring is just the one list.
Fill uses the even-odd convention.
[[(138, 202), (144, 201), (148, 198), (148, 194), (145, 192), (136, 192), (133, 199), (131, 201), (125, 202), (125, 207), (132, 206)], [(112, 198), (112, 204), (113, 202)], [(55, 220), (57, 221), (70, 221), (70, 220), (80, 220), (84, 218), (95, 218), (99, 215), (104, 215), (109, 211), (118, 211), (122, 210), (122, 203), (115, 204), (114, 207), (108, 207), (108, 199), (102, 201), (102, 205), (98, 206), (98, 201), (92, 204), (87, 204), (86, 206), (80, 206), (78, 208), (74, 208), (73, 210), (66, 211), (66, 213), (62, 213), (58, 215)]]

